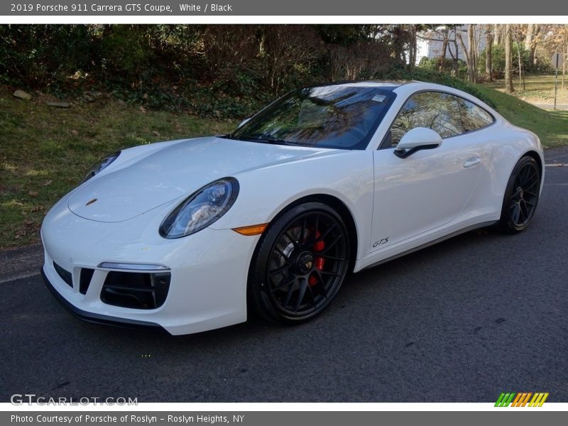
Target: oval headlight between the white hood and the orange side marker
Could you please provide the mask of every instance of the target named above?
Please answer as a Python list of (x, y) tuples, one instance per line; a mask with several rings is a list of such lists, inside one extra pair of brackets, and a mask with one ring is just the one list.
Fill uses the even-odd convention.
[(231, 208), (237, 195), (239, 182), (235, 178), (223, 178), (202, 187), (164, 219), (160, 235), (180, 238), (207, 228)]

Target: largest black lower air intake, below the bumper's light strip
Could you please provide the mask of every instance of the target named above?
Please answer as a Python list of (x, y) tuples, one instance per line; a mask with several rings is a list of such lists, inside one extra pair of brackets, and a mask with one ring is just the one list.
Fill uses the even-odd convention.
[(165, 302), (170, 290), (170, 273), (110, 271), (101, 290), (107, 305), (134, 309), (155, 309)]

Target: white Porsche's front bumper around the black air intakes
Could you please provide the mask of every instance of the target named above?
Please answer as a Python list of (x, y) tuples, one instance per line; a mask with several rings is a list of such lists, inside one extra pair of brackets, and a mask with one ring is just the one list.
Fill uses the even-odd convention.
[[(246, 321), (246, 281), (258, 236), (206, 228), (168, 240), (158, 235), (162, 219), (151, 211), (125, 222), (95, 222), (72, 214), (65, 202), (56, 204), (41, 230), (46, 285), (75, 315), (99, 324), (190, 334)], [(167, 266), (165, 301), (155, 309), (104, 302), (102, 289), (113, 270), (100, 268), (102, 262)], [(86, 290), (80, 285), (85, 268), (93, 271)]]

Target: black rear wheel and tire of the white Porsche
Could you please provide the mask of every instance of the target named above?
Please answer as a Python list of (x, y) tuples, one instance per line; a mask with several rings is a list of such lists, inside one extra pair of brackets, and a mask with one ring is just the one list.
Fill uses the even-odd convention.
[(521, 158), (507, 182), (499, 228), (508, 234), (523, 231), (532, 221), (540, 196), (540, 169), (532, 157)]

